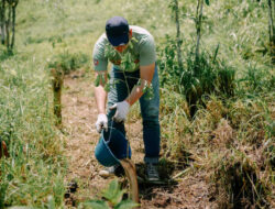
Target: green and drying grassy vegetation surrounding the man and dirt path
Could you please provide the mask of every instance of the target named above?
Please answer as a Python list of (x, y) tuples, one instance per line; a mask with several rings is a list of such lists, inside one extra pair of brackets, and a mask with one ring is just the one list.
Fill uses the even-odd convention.
[(275, 201), (267, 1), (205, 4), (197, 61), (197, 2), (178, 1), (178, 7), (183, 69), (169, 1), (19, 1), (13, 55), (0, 46), (0, 140), (10, 152), (0, 160), (0, 208), (65, 207), (67, 168), (50, 68), (88, 72), (92, 46), (113, 15), (155, 37), (162, 156), (189, 165), (190, 154), (193, 172), (207, 170), (221, 207), (268, 208)]

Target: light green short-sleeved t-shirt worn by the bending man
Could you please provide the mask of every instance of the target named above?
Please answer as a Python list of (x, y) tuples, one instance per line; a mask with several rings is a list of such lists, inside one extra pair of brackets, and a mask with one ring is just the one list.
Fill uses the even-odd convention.
[(92, 58), (95, 70), (107, 70), (108, 61), (119, 70), (135, 72), (140, 66), (154, 64), (156, 61), (153, 36), (140, 26), (130, 25), (132, 38), (122, 53), (117, 52), (103, 33), (94, 47)]

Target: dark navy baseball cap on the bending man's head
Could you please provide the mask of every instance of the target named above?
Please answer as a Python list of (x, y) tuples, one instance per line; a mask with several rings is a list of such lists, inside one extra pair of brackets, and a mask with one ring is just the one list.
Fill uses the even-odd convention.
[(129, 24), (122, 16), (113, 16), (106, 22), (106, 34), (113, 46), (129, 42)]

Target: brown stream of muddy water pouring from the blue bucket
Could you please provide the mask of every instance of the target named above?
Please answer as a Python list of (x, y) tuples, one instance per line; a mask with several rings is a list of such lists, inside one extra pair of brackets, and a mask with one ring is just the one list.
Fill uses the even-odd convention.
[(135, 165), (130, 158), (120, 160), (120, 164), (124, 168), (127, 177), (128, 177), (129, 183), (130, 183), (131, 198), (133, 201), (139, 204), (140, 197), (139, 197), (139, 185), (138, 185)]

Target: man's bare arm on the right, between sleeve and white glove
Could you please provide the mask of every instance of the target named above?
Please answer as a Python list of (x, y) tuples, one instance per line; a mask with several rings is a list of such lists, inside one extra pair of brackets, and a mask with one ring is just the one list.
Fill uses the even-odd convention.
[(147, 85), (151, 84), (153, 76), (154, 76), (154, 73), (155, 73), (155, 63), (140, 67), (141, 82), (140, 82), (140, 85), (134, 86), (131, 94), (125, 99), (130, 106), (132, 106), (136, 100), (139, 100), (142, 97), (143, 89), (144, 89), (146, 82), (147, 82)]

